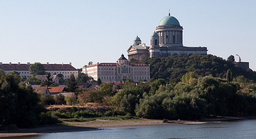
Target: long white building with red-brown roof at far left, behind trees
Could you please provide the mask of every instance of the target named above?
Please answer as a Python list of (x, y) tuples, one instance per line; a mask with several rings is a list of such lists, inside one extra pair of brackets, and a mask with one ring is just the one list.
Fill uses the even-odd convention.
[[(0, 62), (0, 69), (3, 69), (5, 72), (17, 71), (19, 72), (20, 77), (26, 76), (26, 78), (30, 78), (33, 75), (29, 72), (29, 66), (31, 64), (3, 64)], [(74, 74), (75, 78), (78, 76), (78, 70), (74, 68), (71, 63), (69, 64), (43, 64), (46, 68), (46, 72), (50, 72), (50, 74), (63, 74), (64, 79), (69, 78), (71, 74)]]

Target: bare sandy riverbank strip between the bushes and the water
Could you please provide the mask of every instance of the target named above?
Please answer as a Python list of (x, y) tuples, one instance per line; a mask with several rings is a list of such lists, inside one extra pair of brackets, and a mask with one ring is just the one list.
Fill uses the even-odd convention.
[(231, 120), (241, 120), (256, 117), (217, 117), (201, 120), (182, 120), (173, 123), (163, 123), (162, 120), (136, 119), (136, 120), (96, 120), (91, 122), (63, 122), (53, 126), (40, 126), (37, 128), (21, 128), (18, 131), (0, 131), (0, 138), (11, 136), (27, 136), (48, 134), (55, 132), (76, 132), (92, 131), (109, 127), (129, 127), (129, 126), (159, 126), (168, 124), (203, 124), (212, 122), (225, 122)]

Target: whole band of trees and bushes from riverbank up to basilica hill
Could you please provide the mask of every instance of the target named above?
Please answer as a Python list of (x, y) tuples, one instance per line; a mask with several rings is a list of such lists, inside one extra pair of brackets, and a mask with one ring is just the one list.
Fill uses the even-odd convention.
[[(0, 124), (35, 127), (60, 121), (137, 117), (200, 119), (217, 115), (256, 114), (256, 72), (236, 67), (232, 63), (234, 60), (223, 60), (213, 55), (192, 55), (133, 61), (150, 64), (152, 78), (149, 82), (136, 85), (132, 79), (126, 79), (125, 84), (114, 87), (102, 83), (101, 89), (96, 91), (73, 87), (76, 95), (70, 94), (65, 98), (61, 95), (41, 96), (31, 86), (20, 82), (16, 72), (0, 71)], [(82, 73), (80, 76), (89, 79)], [(79, 82), (78, 79), (76, 82)], [(122, 90), (117, 92), (119, 89)], [(44, 107), (64, 100), (71, 105), (78, 101), (79, 107)], [(88, 103), (108, 107), (82, 107)]]

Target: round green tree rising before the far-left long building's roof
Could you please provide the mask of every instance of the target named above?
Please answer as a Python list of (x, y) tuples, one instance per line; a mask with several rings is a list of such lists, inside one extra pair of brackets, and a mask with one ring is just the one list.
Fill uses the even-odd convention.
[(36, 62), (34, 64), (31, 64), (29, 66), (29, 72), (30, 74), (32, 74), (33, 76), (35, 75), (45, 75), (46, 68), (44, 67), (43, 64)]

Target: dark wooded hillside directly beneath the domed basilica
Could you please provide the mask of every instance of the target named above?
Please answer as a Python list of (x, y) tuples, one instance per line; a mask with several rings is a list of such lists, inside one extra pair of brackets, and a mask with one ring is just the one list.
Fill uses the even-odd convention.
[(226, 78), (228, 69), (232, 72), (232, 77), (243, 75), (249, 80), (256, 82), (256, 72), (251, 69), (244, 70), (237, 67), (230, 61), (214, 55), (178, 55), (169, 57), (146, 57), (143, 60), (133, 60), (131, 62), (150, 64), (151, 78), (163, 78), (181, 80), (187, 72), (195, 72), (199, 76), (212, 75), (213, 77)]

